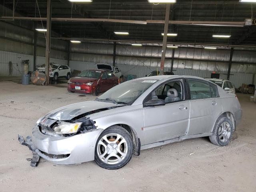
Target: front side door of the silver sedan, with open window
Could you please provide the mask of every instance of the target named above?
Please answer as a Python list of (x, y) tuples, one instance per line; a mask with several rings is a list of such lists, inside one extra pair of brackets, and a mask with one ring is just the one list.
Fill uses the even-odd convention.
[[(180, 82), (182, 96), (180, 101), (166, 103), (164, 106), (145, 107), (144, 106), (144, 140), (145, 144), (151, 144), (172, 138), (178, 138), (185, 135), (188, 130), (189, 122), (189, 101), (185, 100), (184, 82), (182, 79), (172, 80), (172, 82)], [(162, 84), (156, 88), (153, 93), (157, 95), (160, 89), (161, 96), (164, 95), (166, 84)], [(155, 95), (154, 94), (154, 95)], [(156, 96), (150, 96), (150, 99)], [(158, 94), (157, 97), (160, 97)]]

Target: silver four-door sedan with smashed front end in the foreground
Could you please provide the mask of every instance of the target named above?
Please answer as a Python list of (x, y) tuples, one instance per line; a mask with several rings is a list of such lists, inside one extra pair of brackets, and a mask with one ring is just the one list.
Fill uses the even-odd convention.
[(21, 144), (55, 164), (95, 160), (125, 166), (140, 150), (189, 138), (225, 146), (242, 110), (235, 94), (194, 76), (150, 76), (115, 86), (96, 100), (71, 104), (40, 118)]

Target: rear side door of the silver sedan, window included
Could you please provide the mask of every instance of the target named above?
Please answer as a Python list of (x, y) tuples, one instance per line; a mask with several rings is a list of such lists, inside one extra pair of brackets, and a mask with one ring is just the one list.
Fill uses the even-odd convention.
[[(188, 135), (211, 132), (216, 114), (222, 111), (221, 100), (212, 93), (216, 85), (199, 79), (187, 79), (190, 97)], [(211, 86), (210, 86), (211, 84)]]

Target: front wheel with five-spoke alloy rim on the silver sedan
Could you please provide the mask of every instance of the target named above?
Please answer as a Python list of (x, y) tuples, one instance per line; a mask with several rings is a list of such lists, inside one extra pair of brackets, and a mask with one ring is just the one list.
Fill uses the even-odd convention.
[(119, 169), (132, 158), (133, 142), (127, 130), (121, 126), (111, 126), (100, 134), (96, 146), (94, 160), (105, 169)]

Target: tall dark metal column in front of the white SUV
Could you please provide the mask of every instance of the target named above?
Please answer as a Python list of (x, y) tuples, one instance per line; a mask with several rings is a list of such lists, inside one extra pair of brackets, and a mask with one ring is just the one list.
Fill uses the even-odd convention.
[(51, 50), (51, 18), (52, 18), (52, 0), (47, 0), (47, 25), (46, 25), (46, 52), (45, 52), (45, 74), (46, 82), (49, 84), (49, 66), (50, 66), (50, 50)]

